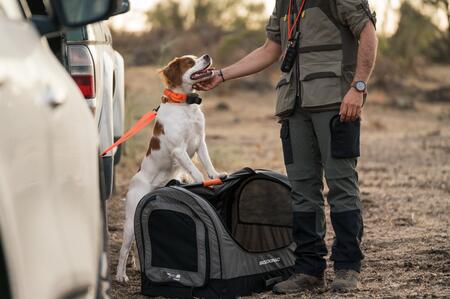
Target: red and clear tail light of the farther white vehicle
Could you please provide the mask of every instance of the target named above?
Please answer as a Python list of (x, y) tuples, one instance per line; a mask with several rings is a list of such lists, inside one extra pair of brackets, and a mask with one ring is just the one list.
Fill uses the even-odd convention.
[(94, 61), (86, 46), (69, 45), (69, 68), (85, 99), (95, 98)]

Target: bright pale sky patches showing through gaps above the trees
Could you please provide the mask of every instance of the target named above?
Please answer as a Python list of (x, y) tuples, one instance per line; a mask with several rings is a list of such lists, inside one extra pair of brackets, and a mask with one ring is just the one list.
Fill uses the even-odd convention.
[[(244, 0), (243, 0), (244, 1)], [(261, 1), (261, 0), (247, 0), (247, 1)], [(275, 5), (275, 0), (263, 0), (266, 3), (266, 13), (269, 16)], [(411, 2), (417, 0), (408, 0)], [(111, 20), (111, 25), (115, 29), (127, 31), (141, 31), (145, 29), (145, 12), (150, 9), (158, 0), (130, 0), (131, 10), (120, 16), (116, 16)], [(390, 9), (387, 8), (387, 3), (391, 2)], [(400, 6), (400, 0), (369, 0), (369, 3), (377, 12), (378, 31), (390, 35), (396, 30), (398, 16), (396, 9)], [(435, 22), (444, 29), (446, 27), (445, 15), (443, 13), (434, 14)]]

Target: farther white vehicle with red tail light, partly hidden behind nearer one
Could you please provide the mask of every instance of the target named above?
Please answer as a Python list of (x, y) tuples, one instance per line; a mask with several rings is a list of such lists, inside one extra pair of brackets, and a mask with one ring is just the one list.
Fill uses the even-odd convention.
[[(44, 0), (27, 0), (33, 15), (47, 15)], [(122, 2), (114, 15), (129, 10)], [(73, 28), (48, 38), (53, 54), (65, 66), (80, 88), (86, 103), (94, 113), (103, 151), (119, 139), (124, 130), (124, 61), (114, 50), (111, 32), (106, 22)], [(105, 181), (105, 197), (113, 185), (113, 168), (120, 160), (120, 150), (113, 150), (102, 159), (101, 174)]]

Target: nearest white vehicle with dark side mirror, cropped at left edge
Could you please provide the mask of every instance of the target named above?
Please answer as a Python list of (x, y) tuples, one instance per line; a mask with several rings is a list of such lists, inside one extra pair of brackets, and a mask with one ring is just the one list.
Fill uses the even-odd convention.
[[(99, 298), (105, 267), (97, 123), (44, 34), (116, 0), (0, 1), (0, 298)], [(32, 21), (30, 21), (32, 20)]]

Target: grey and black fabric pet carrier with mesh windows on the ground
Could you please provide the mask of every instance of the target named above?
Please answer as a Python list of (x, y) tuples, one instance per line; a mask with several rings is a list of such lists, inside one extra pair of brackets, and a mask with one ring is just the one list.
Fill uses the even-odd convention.
[(291, 230), (286, 176), (245, 168), (210, 187), (172, 182), (136, 209), (142, 293), (209, 299), (267, 290), (292, 273)]

